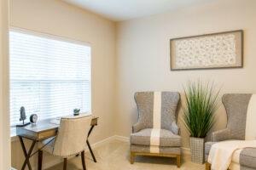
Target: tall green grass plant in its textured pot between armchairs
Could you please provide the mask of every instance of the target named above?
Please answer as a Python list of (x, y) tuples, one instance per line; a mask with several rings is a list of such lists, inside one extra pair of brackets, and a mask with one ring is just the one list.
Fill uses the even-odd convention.
[(214, 112), (218, 109), (219, 90), (214, 91), (213, 88), (213, 83), (201, 81), (189, 82), (188, 87), (183, 88), (183, 122), (191, 134), (191, 160), (197, 163), (205, 161), (205, 138), (215, 123)]

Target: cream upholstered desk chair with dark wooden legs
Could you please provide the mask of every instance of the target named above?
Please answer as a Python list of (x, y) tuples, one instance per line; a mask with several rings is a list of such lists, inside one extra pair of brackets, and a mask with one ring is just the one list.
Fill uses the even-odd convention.
[(67, 157), (81, 153), (83, 169), (85, 170), (84, 149), (90, 121), (91, 114), (61, 117), (61, 124), (55, 139), (44, 139), (38, 143), (39, 148), (43, 147), (38, 152), (38, 170), (42, 169), (43, 150), (53, 156), (64, 158), (64, 170), (67, 169)]

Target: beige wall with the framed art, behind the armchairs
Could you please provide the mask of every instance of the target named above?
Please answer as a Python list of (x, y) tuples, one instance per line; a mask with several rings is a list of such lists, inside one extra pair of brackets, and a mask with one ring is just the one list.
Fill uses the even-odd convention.
[[(117, 134), (129, 136), (136, 122), (137, 91), (182, 92), (188, 80), (214, 81), (224, 93), (256, 93), (256, 1), (219, 0), (207, 5), (183, 8), (120, 22), (117, 30)], [(170, 38), (221, 31), (244, 30), (244, 67), (201, 71), (170, 71)], [(183, 93), (182, 93), (183, 94)], [(214, 129), (225, 126), (223, 105)], [(189, 133), (178, 113), (183, 147), (189, 147)]]

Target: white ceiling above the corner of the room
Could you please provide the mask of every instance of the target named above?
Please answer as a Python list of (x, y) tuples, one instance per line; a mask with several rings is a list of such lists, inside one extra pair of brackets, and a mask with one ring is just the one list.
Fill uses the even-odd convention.
[(214, 0), (62, 0), (109, 20), (122, 21), (178, 8), (209, 3)]

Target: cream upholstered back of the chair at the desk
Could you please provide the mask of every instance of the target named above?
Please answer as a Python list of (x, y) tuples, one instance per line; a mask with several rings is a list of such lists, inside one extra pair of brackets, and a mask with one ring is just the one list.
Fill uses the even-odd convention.
[(54, 156), (73, 156), (83, 151), (90, 129), (91, 114), (61, 117), (55, 139)]

